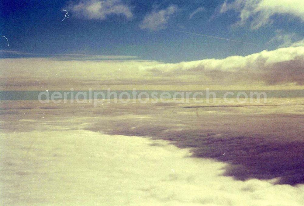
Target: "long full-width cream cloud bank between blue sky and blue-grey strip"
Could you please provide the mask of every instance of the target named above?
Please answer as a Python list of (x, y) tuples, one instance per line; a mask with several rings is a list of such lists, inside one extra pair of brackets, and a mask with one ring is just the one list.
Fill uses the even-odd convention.
[(51, 85), (79, 86), (85, 90), (95, 85), (246, 85), (248, 89), (250, 85), (304, 85), (304, 46), (299, 46), (301, 44), (299, 41), (287, 48), (247, 56), (180, 63), (132, 59), (132, 56), (76, 54), (0, 59), (0, 78), (2, 87), (13, 90)]

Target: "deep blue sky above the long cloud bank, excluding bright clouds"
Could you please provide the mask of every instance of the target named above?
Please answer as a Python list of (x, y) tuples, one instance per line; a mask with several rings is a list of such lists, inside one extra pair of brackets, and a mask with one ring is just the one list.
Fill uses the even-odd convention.
[[(82, 1), (84, 6), (104, 1)], [(109, 0), (105, 2), (111, 2)], [(240, 10), (223, 10), (222, 0), (212, 1), (112, 1), (129, 9), (105, 12), (104, 17), (88, 17), (75, 11), (78, 1), (2, 1), (1, 50), (14, 50), (49, 56), (66, 53), (93, 55), (127, 55), (163, 62), (193, 61), (249, 55), (304, 38), (301, 16), (277, 13), (268, 20), (271, 25), (252, 28), (249, 18), (244, 24)], [(226, 4), (231, 4), (229, 1)], [(168, 8), (173, 8), (171, 12)], [(70, 18), (64, 19), (68, 11)], [(243, 8), (244, 9), (244, 8)], [(163, 11), (164, 16), (159, 15)], [(195, 12), (197, 11), (197, 12)], [(143, 22), (155, 14), (154, 19)], [(167, 14), (166, 14), (167, 13)], [(158, 14), (158, 15), (157, 15)], [(128, 16), (129, 15), (129, 16)], [(190, 19), (191, 16), (191, 19)], [(164, 17), (165, 22), (150, 25)], [(186, 34), (174, 30), (222, 37), (239, 42)], [(281, 38), (271, 40), (276, 36)], [(285, 35), (285, 39), (282, 36)], [(287, 42), (288, 44), (288, 42)], [(7, 54), (6, 56), (7, 57)]]

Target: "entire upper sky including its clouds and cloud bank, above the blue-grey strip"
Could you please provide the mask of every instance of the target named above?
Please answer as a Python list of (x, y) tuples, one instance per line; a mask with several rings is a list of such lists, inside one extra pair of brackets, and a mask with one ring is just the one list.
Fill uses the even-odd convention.
[(9, 41), (0, 41), (6, 90), (35, 81), (54, 85), (58, 76), (125, 85), (304, 83), (302, 0), (2, 1), (0, 7), (0, 35)]

